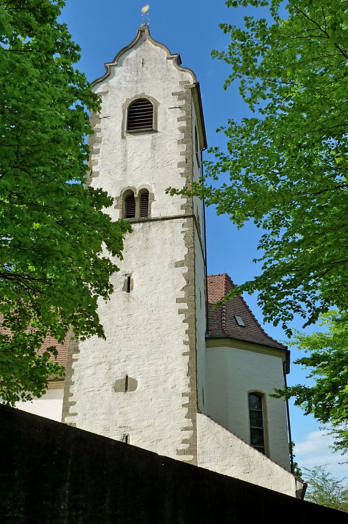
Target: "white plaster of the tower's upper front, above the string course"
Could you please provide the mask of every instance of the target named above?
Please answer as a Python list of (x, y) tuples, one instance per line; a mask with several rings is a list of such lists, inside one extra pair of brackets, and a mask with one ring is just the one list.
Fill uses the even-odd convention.
[[(100, 131), (92, 137), (100, 140), (95, 154), (92, 149), (92, 163), (99, 172), (93, 185), (102, 186), (115, 197), (125, 187), (150, 185), (154, 193), (152, 216), (182, 213), (181, 196), (165, 194), (169, 185), (183, 185), (183, 168), (178, 169), (177, 163), (188, 163), (182, 140), (192, 139), (183, 138), (184, 120), (178, 123), (178, 118), (185, 117), (185, 100), (173, 95), (184, 93), (180, 82), (192, 83), (192, 75), (176, 69), (172, 60), (167, 60), (164, 49), (142, 36), (136, 46), (119, 58), (117, 66), (110, 68), (109, 77), (94, 87), (95, 92), (104, 94), (97, 127)], [(122, 138), (122, 105), (141, 93), (159, 102), (158, 130), (128, 133)], [(117, 219), (120, 210), (110, 214)]]

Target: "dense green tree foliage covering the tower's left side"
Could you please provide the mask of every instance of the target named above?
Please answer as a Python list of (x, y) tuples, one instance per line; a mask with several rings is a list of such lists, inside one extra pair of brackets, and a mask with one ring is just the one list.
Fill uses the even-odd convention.
[(63, 0), (0, 2), (0, 390), (31, 399), (61, 373), (37, 355), (50, 333), (62, 342), (104, 336), (97, 299), (107, 300), (126, 222), (102, 210), (113, 199), (85, 188), (99, 102), (74, 68), (80, 48), (57, 17)]

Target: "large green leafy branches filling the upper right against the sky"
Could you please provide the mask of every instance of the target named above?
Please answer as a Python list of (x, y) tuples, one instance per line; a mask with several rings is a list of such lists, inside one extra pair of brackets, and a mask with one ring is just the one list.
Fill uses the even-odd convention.
[[(255, 112), (221, 128), (228, 153), (211, 151), (215, 188), (194, 191), (238, 227), (253, 220), (262, 274), (235, 288), (259, 291), (265, 320), (291, 334), (294, 313), (315, 322), (330, 307), (348, 310), (348, 5), (345, 0), (229, 0), (270, 5), (268, 21), (222, 24), (231, 37), (213, 56), (231, 65)], [(257, 13), (257, 10), (255, 10)], [(175, 190), (172, 190), (175, 192)]]

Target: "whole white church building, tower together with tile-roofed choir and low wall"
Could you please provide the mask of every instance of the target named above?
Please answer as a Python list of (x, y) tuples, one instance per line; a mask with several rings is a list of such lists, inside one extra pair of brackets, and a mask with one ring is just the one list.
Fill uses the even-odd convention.
[(92, 84), (101, 111), (88, 183), (114, 197), (107, 212), (132, 232), (113, 260), (114, 292), (98, 303), (106, 340), (70, 337), (62, 422), (298, 497), (285, 403), (272, 398), (289, 352), (242, 297), (214, 306), (233, 282), (206, 278), (201, 201), (166, 192), (200, 177), (195, 74), (146, 25), (105, 67)]

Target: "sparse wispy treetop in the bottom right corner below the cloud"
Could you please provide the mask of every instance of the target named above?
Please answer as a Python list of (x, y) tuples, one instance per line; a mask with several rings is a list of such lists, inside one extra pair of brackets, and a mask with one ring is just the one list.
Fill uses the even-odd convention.
[(348, 513), (348, 486), (334, 478), (325, 466), (306, 467), (304, 478), (308, 483), (305, 500)]

